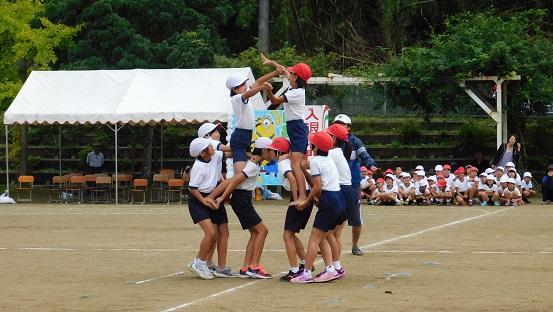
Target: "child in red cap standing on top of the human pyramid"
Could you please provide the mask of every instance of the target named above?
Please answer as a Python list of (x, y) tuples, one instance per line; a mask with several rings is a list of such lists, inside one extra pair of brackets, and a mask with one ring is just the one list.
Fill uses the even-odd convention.
[(286, 127), (290, 138), (290, 160), (292, 161), (292, 172), (296, 178), (299, 190), (299, 201), (307, 198), (305, 177), (301, 170), (301, 160), (307, 152), (307, 135), (309, 129), (305, 124), (303, 110), (305, 108), (305, 89), (307, 80), (311, 78), (311, 68), (305, 63), (298, 63), (294, 67), (285, 69), (275, 61), (269, 60), (263, 54), (263, 64), (272, 65), (277, 70), (282, 71), (283, 75), (290, 81), (290, 88), (285, 94), (278, 98), (271, 90), (267, 94), (272, 104), (285, 104), (284, 115), (286, 117)]

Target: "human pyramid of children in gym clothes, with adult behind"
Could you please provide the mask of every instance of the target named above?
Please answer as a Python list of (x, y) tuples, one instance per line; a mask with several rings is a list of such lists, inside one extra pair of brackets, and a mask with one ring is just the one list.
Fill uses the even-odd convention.
[[(275, 70), (251, 86), (247, 86), (245, 77), (232, 75), (227, 78), (226, 87), (230, 90), (236, 120), (230, 147), (219, 142), (220, 125), (211, 123), (202, 125), (198, 138), (190, 144), (190, 155), (196, 161), (190, 172), (189, 210), (193, 222), (204, 231), (204, 237), (188, 268), (203, 279), (213, 279), (214, 276), (272, 278), (260, 264), (268, 229), (253, 207), (252, 191), (256, 187), (260, 162), (278, 159), (282, 184), (291, 193), (283, 234), (290, 270), (280, 280), (311, 283), (343, 277), (346, 273), (340, 263), (341, 231), (345, 220), (349, 220), (352, 226), (362, 225), (361, 170), (357, 156), (366, 151), (356, 147), (352, 153), (351, 121), (346, 115), (338, 115), (335, 123), (325, 131), (309, 134), (304, 121), (305, 88), (311, 77), (307, 64), (298, 63), (285, 68), (263, 54), (261, 57), (264, 64)], [(289, 90), (279, 97), (272, 93), (272, 86), (268, 83), (277, 75), (284, 75), (290, 81)], [(289, 140), (260, 137), (251, 150), (255, 119), (248, 99), (261, 90), (267, 91), (273, 104), (284, 104)], [(312, 151), (310, 161), (305, 160), (308, 144), (311, 144)], [(228, 157), (233, 159), (234, 176), (222, 179), (222, 162)], [(375, 168), (374, 163), (367, 164)], [(242, 228), (250, 232), (243, 266), (236, 273), (226, 265), (229, 228), (224, 203), (229, 197)], [(314, 204), (317, 212), (305, 249), (296, 233), (307, 226)], [(215, 249), (217, 265), (213, 264)], [(318, 251), (322, 254), (325, 269), (315, 275), (314, 262)], [(356, 254), (355, 248), (353, 251)], [(360, 250), (359, 253), (362, 254)]]

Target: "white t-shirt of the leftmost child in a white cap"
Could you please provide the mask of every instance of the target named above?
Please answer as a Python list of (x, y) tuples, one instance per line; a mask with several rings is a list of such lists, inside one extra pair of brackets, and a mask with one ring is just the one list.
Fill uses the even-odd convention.
[(194, 161), (190, 170), (189, 188), (197, 189), (202, 193), (211, 193), (217, 186), (221, 177), (221, 165), (225, 154), (222, 151), (216, 151), (208, 162), (200, 159)]

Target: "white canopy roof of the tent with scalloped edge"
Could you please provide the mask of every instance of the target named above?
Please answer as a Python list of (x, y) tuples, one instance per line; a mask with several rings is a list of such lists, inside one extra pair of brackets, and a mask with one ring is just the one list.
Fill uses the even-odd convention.
[[(33, 71), (4, 114), (4, 124), (157, 124), (228, 121), (230, 74), (249, 67)], [(261, 95), (250, 98), (265, 109)]]

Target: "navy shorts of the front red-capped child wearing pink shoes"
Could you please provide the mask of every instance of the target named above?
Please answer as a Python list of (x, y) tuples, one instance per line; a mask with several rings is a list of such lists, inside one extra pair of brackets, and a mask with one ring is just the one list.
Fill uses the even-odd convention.
[(322, 191), (319, 197), (319, 210), (315, 215), (313, 227), (323, 232), (336, 228), (338, 218), (344, 213), (344, 198), (341, 191)]

